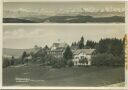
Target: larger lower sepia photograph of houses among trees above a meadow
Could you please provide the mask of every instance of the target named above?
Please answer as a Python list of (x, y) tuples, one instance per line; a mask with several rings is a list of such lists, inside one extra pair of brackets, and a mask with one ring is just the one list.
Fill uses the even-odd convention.
[(4, 25), (3, 86), (124, 87), (125, 25)]

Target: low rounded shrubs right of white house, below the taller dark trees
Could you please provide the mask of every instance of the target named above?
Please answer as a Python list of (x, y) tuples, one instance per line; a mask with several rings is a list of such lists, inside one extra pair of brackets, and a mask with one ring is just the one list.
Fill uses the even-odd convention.
[(92, 57), (92, 65), (95, 66), (122, 66), (124, 59), (109, 53), (96, 54)]

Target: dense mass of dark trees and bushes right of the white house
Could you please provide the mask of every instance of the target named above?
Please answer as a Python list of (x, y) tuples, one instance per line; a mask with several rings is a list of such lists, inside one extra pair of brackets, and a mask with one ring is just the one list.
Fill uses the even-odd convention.
[(92, 64), (96, 66), (124, 66), (124, 40), (101, 39), (92, 57)]

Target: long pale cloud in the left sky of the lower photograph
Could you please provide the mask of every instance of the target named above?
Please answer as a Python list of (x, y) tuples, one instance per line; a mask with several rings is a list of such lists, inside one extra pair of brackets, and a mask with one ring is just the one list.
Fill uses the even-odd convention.
[(46, 37), (56, 37), (57, 34), (54, 30), (44, 30), (44, 29), (14, 29), (14, 30), (4, 30), (4, 39), (23, 39), (23, 38), (46, 38)]

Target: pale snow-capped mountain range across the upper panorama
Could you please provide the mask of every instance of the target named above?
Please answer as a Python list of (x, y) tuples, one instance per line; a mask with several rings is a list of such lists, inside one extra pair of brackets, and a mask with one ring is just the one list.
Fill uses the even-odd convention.
[(95, 10), (87, 8), (66, 9), (66, 10), (28, 10), (19, 8), (17, 10), (4, 10), (4, 18), (20, 18), (20, 17), (45, 17), (45, 16), (93, 16), (93, 17), (111, 17), (111, 16), (125, 16), (125, 10)]

